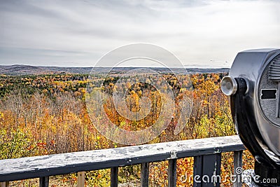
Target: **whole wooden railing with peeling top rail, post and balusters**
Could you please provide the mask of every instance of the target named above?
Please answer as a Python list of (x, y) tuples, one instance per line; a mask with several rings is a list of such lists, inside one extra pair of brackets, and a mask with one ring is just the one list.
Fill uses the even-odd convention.
[[(242, 165), (244, 149), (238, 136), (229, 136), (0, 160), (0, 183), (3, 187), (8, 184), (6, 181), (39, 178), (39, 186), (47, 187), (49, 176), (78, 172), (78, 186), (83, 186), (85, 171), (111, 168), (111, 187), (116, 187), (118, 167), (141, 164), (141, 186), (148, 186), (149, 163), (169, 160), (168, 186), (174, 187), (177, 159), (194, 157), (193, 175), (211, 177), (221, 173), (221, 153), (233, 151), (237, 168)], [(241, 181), (233, 185), (241, 186)], [(194, 182), (194, 186), (220, 186), (220, 183)]]

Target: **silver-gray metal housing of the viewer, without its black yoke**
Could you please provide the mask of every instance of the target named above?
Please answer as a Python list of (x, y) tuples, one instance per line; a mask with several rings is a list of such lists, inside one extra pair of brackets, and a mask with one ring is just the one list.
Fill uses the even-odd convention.
[[(279, 54), (280, 50), (276, 49), (246, 50), (238, 53), (230, 69), (230, 77), (244, 78), (246, 81), (246, 110), (255, 118), (256, 128), (265, 141), (260, 141), (260, 138), (257, 139), (258, 143), (277, 164), (280, 164), (280, 118), (276, 116), (279, 111), (280, 87), (278, 83), (269, 80), (268, 71), (272, 60)], [(266, 92), (272, 92), (272, 97), (270, 95), (268, 99), (263, 99)]]

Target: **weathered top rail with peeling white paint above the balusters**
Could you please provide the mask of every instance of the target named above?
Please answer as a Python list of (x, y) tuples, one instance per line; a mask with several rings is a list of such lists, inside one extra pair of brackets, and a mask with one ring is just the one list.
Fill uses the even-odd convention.
[(0, 160), (0, 181), (69, 174), (244, 149), (238, 136), (230, 136)]

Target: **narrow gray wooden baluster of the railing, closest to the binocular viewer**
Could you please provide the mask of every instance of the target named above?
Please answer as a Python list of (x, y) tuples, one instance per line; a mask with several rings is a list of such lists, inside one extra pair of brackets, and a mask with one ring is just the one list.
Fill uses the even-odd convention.
[(243, 151), (234, 151), (234, 175), (236, 176), (233, 187), (242, 186), (241, 172), (242, 169), (242, 153)]

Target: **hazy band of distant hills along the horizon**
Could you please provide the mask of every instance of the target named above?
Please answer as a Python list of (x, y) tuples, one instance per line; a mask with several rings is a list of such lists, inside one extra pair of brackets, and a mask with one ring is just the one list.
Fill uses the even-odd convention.
[[(117, 73), (121, 73), (123, 71), (129, 71), (130, 69), (135, 69), (135, 67), (118, 67), (113, 69)], [(159, 70), (162, 73), (168, 72), (165, 68), (149, 68), (155, 71)], [(99, 73), (105, 73), (110, 71), (110, 67), (96, 67), (94, 71)], [(186, 69), (189, 74), (195, 73), (227, 73), (230, 71), (228, 68), (218, 68), (218, 69), (202, 69), (202, 68), (187, 68)], [(33, 74), (90, 74), (92, 71), (92, 67), (36, 67), (36, 66), (29, 66), (29, 65), (10, 65), (10, 66), (3, 66), (0, 65), (0, 74), (5, 75), (33, 75)], [(184, 69), (180, 68), (172, 68), (172, 71), (176, 73), (186, 73)]]

